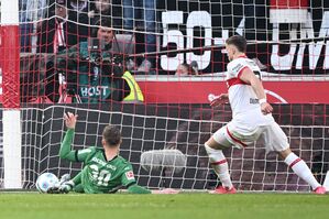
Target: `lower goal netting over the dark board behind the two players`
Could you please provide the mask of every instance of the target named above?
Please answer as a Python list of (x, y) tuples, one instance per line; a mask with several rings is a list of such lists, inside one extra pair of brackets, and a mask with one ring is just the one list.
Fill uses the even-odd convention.
[[(77, 113), (74, 149), (101, 146), (101, 131), (108, 124), (121, 128), (120, 154), (133, 164), (138, 183), (150, 188), (211, 189), (218, 183), (209, 168), (205, 141), (230, 119), (224, 106), (216, 111), (205, 106), (113, 105), (101, 110), (86, 106), (48, 106), (22, 109), (22, 163), (24, 188), (34, 188), (39, 174), (76, 175), (81, 165), (58, 157), (65, 133), (63, 113)], [(293, 151), (311, 167), (318, 180), (325, 179), (329, 162), (328, 106), (275, 106), (275, 114), (288, 135)], [(185, 166), (174, 163), (145, 171), (141, 154), (151, 150), (179, 150)], [(265, 154), (262, 141), (245, 150), (227, 150), (233, 184), (241, 190), (307, 191), (309, 186), (292, 173), (275, 153)], [(173, 168), (174, 167), (174, 168)], [(177, 168), (175, 171), (175, 168)], [(3, 171), (3, 169), (2, 169)]]

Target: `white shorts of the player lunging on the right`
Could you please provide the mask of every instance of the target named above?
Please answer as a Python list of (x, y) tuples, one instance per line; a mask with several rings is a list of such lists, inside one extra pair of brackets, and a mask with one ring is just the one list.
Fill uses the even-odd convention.
[(233, 122), (229, 122), (215, 132), (213, 140), (222, 146), (243, 149), (263, 138), (266, 153), (270, 151), (281, 152), (289, 147), (287, 135), (276, 122), (260, 125), (248, 133), (239, 133), (237, 125)]

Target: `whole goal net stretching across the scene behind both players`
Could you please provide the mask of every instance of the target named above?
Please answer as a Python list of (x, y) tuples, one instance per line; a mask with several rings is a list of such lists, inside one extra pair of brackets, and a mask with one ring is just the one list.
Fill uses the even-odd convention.
[[(9, 1), (1, 1), (1, 7), (4, 2)], [(220, 182), (209, 168), (204, 143), (230, 121), (231, 110), (229, 106), (211, 109), (208, 96), (227, 91), (229, 61), (223, 45), (234, 34), (246, 37), (248, 56), (262, 69), (274, 117), (293, 151), (322, 183), (329, 162), (328, 1), (144, 2), (153, 3), (19, 0), (20, 33), (15, 36), (20, 61), (14, 65), (20, 84), (8, 79), (12, 65), (7, 63), (12, 58), (7, 55), (12, 47), (7, 44), (7, 24), (1, 22), (0, 51), (7, 52), (0, 56), (7, 90), (2, 103), (13, 92), (19, 97), (13, 102), (20, 101), (22, 134), (17, 158), (21, 161), (22, 187), (35, 188), (37, 175), (44, 172), (74, 176), (81, 168), (58, 157), (65, 111), (79, 114), (75, 149), (100, 145), (102, 128), (119, 125), (123, 134), (120, 154), (132, 162), (139, 184), (150, 188), (216, 187)], [(103, 26), (113, 32), (98, 33)], [(100, 40), (98, 34), (109, 35)], [(107, 37), (112, 39), (110, 54)], [(133, 99), (125, 99), (124, 70), (132, 74), (143, 98), (135, 92)], [(19, 90), (8, 91), (11, 84), (19, 85)], [(0, 135), (9, 140), (10, 110), (6, 106)], [(162, 150), (177, 150), (183, 156), (176, 154), (172, 165), (141, 158), (146, 152), (165, 153)], [(265, 154), (262, 140), (224, 154), (233, 184), (241, 190), (310, 189), (274, 153)], [(3, 157), (1, 154), (4, 164)], [(17, 171), (3, 166), (1, 188), (4, 173)]]

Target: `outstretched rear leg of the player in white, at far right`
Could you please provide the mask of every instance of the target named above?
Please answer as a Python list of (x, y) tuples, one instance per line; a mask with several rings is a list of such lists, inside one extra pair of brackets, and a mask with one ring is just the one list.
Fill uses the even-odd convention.
[(275, 122), (268, 129), (267, 138), (273, 142), (272, 150), (276, 151), (294, 173), (308, 183), (316, 193), (325, 194), (326, 189), (317, 182), (305, 161), (292, 152), (287, 136), (279, 125)]

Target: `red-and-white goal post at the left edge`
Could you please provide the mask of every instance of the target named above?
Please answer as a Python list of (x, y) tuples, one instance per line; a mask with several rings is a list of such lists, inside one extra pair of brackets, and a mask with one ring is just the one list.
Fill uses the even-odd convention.
[(19, 1), (1, 1), (3, 186), (22, 188)]

